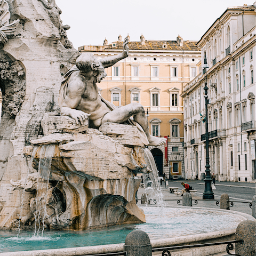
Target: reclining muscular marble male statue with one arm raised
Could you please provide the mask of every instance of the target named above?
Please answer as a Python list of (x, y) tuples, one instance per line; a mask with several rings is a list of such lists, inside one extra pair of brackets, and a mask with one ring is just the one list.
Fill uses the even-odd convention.
[(98, 94), (96, 83), (107, 76), (105, 68), (113, 66), (117, 61), (126, 58), (129, 54), (129, 39), (124, 39), (123, 52), (98, 60), (92, 53), (83, 53), (65, 75), (60, 88), (60, 114), (70, 116), (76, 123), (83, 124), (88, 117), (91, 127), (99, 128), (102, 124), (124, 123), (133, 116), (146, 133), (148, 145), (164, 145), (166, 139), (150, 135), (145, 110), (139, 103), (130, 103), (126, 106), (113, 109), (111, 103), (102, 99)]

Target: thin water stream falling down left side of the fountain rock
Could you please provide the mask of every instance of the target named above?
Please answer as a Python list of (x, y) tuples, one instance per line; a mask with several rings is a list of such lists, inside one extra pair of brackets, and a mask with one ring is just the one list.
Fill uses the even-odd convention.
[(54, 154), (55, 145), (43, 145), (41, 147), (41, 156), (38, 166), (38, 178), (36, 189), (36, 202), (35, 202), (35, 233), (38, 236), (41, 229), (42, 222), (42, 236), (44, 232), (44, 220), (46, 216), (46, 200), (47, 189), (49, 185), (52, 157)]

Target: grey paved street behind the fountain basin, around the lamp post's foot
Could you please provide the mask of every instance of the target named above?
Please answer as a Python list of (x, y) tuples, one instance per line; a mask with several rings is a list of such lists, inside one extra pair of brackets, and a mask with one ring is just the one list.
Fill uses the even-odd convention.
[[(188, 183), (193, 189), (196, 189), (197, 192), (192, 197), (193, 204), (195, 204), (194, 200), (196, 199), (198, 204), (195, 206), (198, 207), (209, 207), (218, 209), (220, 206), (217, 206), (214, 201), (201, 201), (203, 199), (204, 193), (204, 181), (202, 180), (174, 180), (169, 181), (169, 187), (179, 187), (178, 191), (181, 191), (183, 188), (181, 182)], [(249, 206), (249, 203), (237, 203), (237, 201), (243, 202), (251, 202), (252, 197), (255, 193), (255, 183), (249, 182), (218, 182), (215, 183), (216, 190), (213, 190), (214, 199), (219, 200), (222, 194), (228, 194), (229, 200), (233, 201), (234, 206), (230, 207), (230, 210), (239, 211), (247, 214), (252, 214), (252, 209)], [(169, 188), (165, 188), (164, 182), (162, 183), (162, 193), (164, 194), (164, 200), (166, 205), (178, 205), (177, 201), (181, 200), (182, 205), (182, 197), (177, 196), (175, 194), (170, 193)], [(141, 198), (144, 189), (139, 188), (138, 190), (138, 198)], [(167, 200), (167, 201), (166, 201)], [(168, 201), (172, 200), (172, 201)], [(140, 201), (139, 201), (140, 203)], [(231, 206), (231, 205), (230, 205)]]

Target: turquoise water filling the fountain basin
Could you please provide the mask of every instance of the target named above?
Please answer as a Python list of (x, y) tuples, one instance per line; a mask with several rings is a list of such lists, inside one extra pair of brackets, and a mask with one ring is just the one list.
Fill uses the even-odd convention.
[[(124, 225), (84, 231), (44, 231), (44, 236), (21, 231), (20, 237), (13, 231), (0, 231), (0, 252), (58, 249), (124, 243), (132, 230), (145, 231), (150, 239), (201, 234), (236, 228), (245, 220), (242, 215), (186, 207), (165, 207), (159, 218), (159, 207), (142, 206), (147, 223)], [(198, 221), (200, 218), (200, 222)]]

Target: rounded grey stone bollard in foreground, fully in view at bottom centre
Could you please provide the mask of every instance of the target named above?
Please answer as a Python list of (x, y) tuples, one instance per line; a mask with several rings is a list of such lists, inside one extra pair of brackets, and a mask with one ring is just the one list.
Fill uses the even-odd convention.
[(151, 256), (152, 247), (150, 239), (142, 230), (134, 230), (125, 238), (124, 252), (127, 256)]

